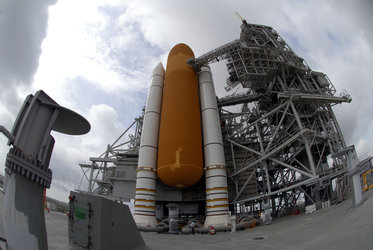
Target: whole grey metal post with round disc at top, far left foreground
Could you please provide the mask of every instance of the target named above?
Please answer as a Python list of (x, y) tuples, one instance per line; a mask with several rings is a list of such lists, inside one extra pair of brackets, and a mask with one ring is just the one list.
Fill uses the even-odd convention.
[(87, 133), (90, 125), (40, 90), (26, 98), (12, 134), (6, 133), (13, 145), (5, 162), (3, 207), (9, 249), (48, 249), (43, 196), (52, 181), (51, 130), (79, 135)]

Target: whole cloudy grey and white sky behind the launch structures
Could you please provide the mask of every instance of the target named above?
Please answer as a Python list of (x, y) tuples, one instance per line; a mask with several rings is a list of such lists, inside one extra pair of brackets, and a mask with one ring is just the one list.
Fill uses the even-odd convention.
[[(152, 68), (188, 44), (196, 56), (237, 39), (238, 11), (275, 28), (351, 104), (334, 108), (348, 145), (373, 155), (373, 2), (370, 0), (1, 0), (0, 124), (9, 130), (24, 98), (43, 89), (92, 126), (84, 136), (53, 132), (48, 195), (67, 200), (78, 163), (100, 155), (140, 115)], [(224, 64), (213, 66), (225, 95)], [(0, 135), (0, 161), (8, 151)], [(0, 168), (4, 173), (4, 168)]]

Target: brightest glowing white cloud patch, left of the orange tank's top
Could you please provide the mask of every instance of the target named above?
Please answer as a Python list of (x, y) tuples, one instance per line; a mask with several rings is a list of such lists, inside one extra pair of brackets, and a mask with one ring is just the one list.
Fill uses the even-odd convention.
[[(144, 69), (151, 70), (150, 65), (156, 60), (146, 60), (141, 47), (135, 50), (142, 37), (115, 16), (104, 13), (103, 8), (110, 5), (100, 1), (60, 1), (50, 8), (48, 36), (42, 44), (35, 90), (43, 89), (59, 103), (68, 105), (69, 83), (77, 77), (85, 78), (91, 87), (104, 93), (127, 93), (129, 99), (130, 93), (146, 89)], [(140, 61), (123, 53), (128, 45), (136, 51), (132, 58), (143, 56)]]

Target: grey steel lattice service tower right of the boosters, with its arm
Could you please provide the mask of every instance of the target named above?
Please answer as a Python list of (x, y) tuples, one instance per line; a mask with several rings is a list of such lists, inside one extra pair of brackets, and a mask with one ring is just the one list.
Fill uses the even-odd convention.
[(233, 209), (271, 200), (278, 214), (301, 194), (316, 203), (330, 198), (334, 178), (344, 183), (343, 194), (347, 161), (337, 152), (346, 145), (332, 106), (351, 98), (335, 96), (328, 77), (312, 71), (271, 27), (243, 21), (241, 29), (240, 39), (189, 61), (198, 71), (225, 60), (225, 89), (246, 89), (219, 100)]

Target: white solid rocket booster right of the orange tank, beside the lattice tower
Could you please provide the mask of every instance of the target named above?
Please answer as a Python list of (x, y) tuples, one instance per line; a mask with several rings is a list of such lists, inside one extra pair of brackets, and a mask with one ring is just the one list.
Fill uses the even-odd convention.
[(202, 67), (198, 75), (206, 175), (206, 220), (204, 227), (230, 223), (227, 173), (223, 139), (211, 70)]

